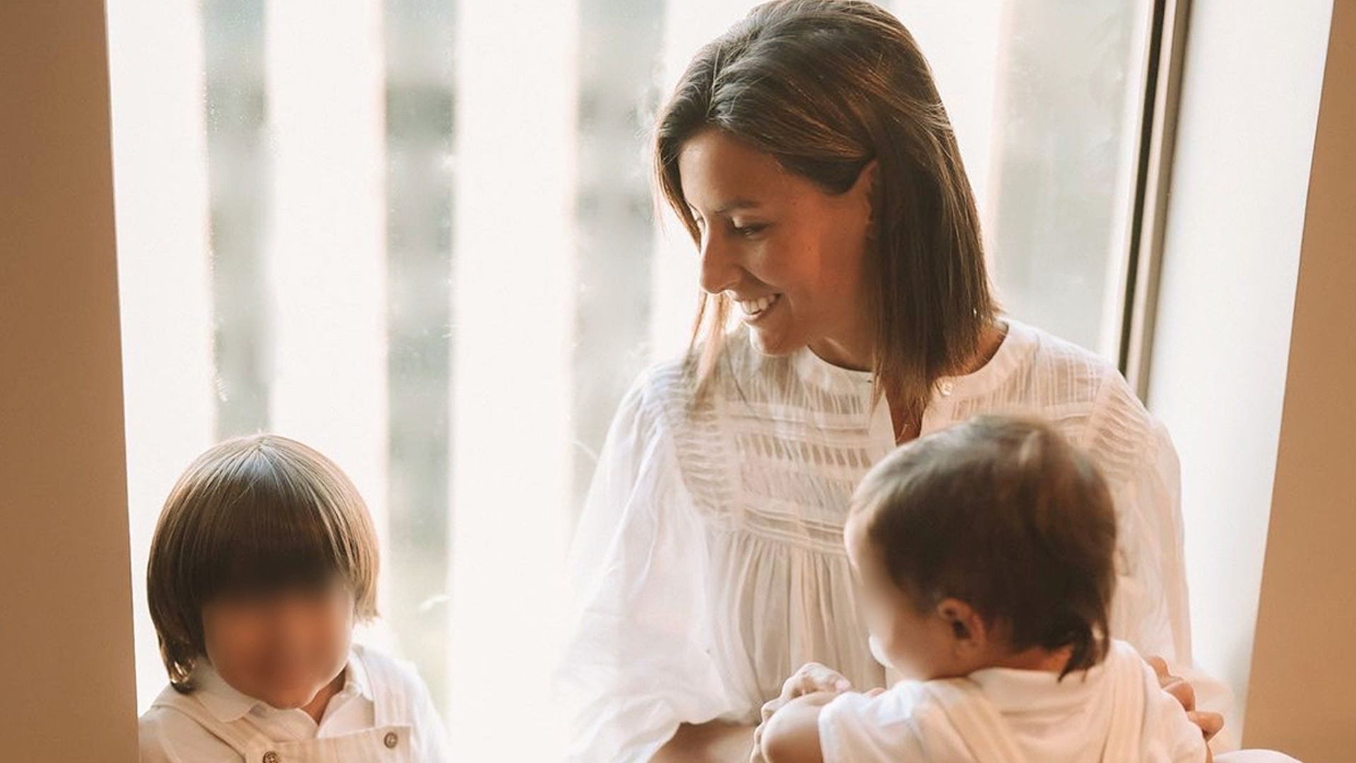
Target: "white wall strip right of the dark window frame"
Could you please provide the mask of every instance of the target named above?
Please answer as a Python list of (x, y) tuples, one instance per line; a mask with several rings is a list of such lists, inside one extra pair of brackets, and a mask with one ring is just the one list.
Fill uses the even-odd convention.
[(1330, 0), (1192, 3), (1149, 406), (1182, 467), (1195, 653), (1245, 721)]

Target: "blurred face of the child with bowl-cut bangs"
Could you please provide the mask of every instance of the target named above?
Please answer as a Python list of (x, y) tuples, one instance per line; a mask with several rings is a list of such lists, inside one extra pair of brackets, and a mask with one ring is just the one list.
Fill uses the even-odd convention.
[(202, 608), (207, 660), (235, 690), (278, 709), (305, 707), (348, 660), (354, 596), (340, 582)]

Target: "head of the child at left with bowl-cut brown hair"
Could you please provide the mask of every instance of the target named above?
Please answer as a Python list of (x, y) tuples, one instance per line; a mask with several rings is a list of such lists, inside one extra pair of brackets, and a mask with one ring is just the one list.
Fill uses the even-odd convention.
[(237, 691), (302, 707), (376, 616), (377, 539), (347, 477), (275, 434), (228, 440), (179, 478), (146, 569), (170, 683), (206, 658)]

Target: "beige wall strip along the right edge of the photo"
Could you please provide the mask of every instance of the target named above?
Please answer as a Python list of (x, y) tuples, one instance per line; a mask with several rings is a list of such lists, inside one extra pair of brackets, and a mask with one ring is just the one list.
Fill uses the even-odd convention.
[(1356, 760), (1356, 0), (1337, 0), (1243, 740)]

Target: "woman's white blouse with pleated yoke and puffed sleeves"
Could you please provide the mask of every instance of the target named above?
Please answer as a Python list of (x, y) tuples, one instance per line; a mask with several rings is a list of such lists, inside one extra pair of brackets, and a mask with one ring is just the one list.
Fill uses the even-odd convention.
[[(938, 380), (922, 433), (1037, 414), (1090, 452), (1119, 515), (1112, 634), (1188, 665), (1168, 432), (1101, 357), (1005, 320), (983, 368)], [(712, 384), (694, 401), (681, 361), (656, 365), (609, 430), (571, 553), (575, 620), (557, 676), (571, 760), (648, 760), (681, 722), (754, 724), (808, 661), (857, 690), (885, 683), (842, 543), (857, 482), (895, 448), (872, 375), (808, 349), (765, 356), (740, 330)]]

